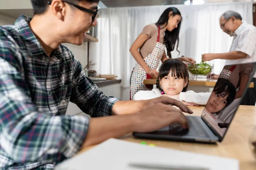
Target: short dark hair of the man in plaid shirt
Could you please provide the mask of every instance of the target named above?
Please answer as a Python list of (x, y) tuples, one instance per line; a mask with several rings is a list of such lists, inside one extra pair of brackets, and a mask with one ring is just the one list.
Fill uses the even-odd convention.
[[(48, 8), (47, 2), (51, 2), (52, 0), (31, 0), (32, 6), (33, 6), (33, 11), (34, 15), (36, 14), (44, 14), (44, 12)], [(99, 3), (99, 0), (67, 0), (72, 3), (78, 3), (81, 1), (87, 1), (89, 3)]]

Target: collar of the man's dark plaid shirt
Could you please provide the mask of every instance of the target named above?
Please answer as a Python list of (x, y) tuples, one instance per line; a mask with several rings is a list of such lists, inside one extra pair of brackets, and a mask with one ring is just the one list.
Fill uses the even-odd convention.
[[(32, 56), (45, 55), (47, 56), (44, 48), (42, 47), (39, 40), (35, 37), (35, 34), (31, 30), (29, 26), (29, 22), (32, 20), (31, 17), (27, 17), (26, 15), (20, 15), (15, 21), (14, 27), (20, 37), (23, 39), (26, 45), (26, 49), (32, 54)], [(58, 56), (58, 52), (61, 51), (61, 47), (58, 46), (55, 50), (52, 51), (52, 55), (56, 58), (60, 59)]]

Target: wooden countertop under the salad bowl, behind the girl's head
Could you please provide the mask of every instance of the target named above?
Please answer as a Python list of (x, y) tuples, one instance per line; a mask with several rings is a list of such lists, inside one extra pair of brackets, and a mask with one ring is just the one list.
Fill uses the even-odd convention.
[[(157, 82), (157, 79), (144, 79), (143, 83), (145, 85), (155, 85)], [(195, 86), (209, 86), (214, 87), (217, 80), (210, 80), (207, 81), (206, 79), (199, 79), (198, 80), (189, 80), (189, 85), (195, 85)], [(249, 88), (253, 88), (253, 82), (250, 83)]]

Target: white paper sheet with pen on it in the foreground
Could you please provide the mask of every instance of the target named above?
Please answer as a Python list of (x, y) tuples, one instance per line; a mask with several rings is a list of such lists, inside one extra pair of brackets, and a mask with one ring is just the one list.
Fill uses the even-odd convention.
[(209, 170), (239, 170), (239, 161), (236, 159), (152, 147), (119, 139), (108, 139), (91, 150), (58, 164), (55, 170), (142, 169), (129, 166), (131, 163), (206, 167)]

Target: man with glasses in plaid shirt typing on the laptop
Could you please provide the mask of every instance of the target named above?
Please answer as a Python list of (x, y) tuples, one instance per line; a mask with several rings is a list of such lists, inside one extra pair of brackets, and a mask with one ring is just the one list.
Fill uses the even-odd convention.
[[(21, 15), (14, 25), (0, 27), (1, 169), (50, 170), (81, 148), (111, 137), (173, 122), (188, 128), (182, 111), (192, 111), (175, 99), (105, 96), (61, 45), (83, 43), (85, 32), (97, 24), (99, 0), (31, 2), (33, 18)], [(68, 102), (92, 118), (64, 116)]]

